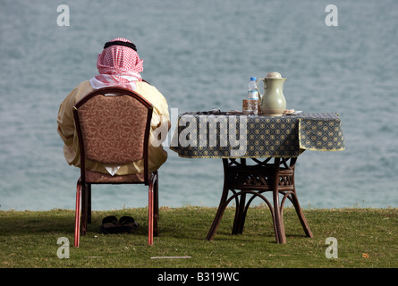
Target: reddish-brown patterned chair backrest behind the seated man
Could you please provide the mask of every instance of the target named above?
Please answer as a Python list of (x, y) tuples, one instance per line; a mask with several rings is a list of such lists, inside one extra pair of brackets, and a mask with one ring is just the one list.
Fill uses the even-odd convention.
[[(126, 88), (99, 88), (73, 106), (80, 144), (80, 168), (85, 160), (123, 165), (144, 160), (148, 181), (148, 138), (152, 105)], [(83, 159), (84, 158), (84, 159)]]

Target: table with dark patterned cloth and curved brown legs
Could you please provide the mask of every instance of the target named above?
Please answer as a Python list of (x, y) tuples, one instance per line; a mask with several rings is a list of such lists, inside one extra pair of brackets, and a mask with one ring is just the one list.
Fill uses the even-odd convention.
[[(236, 205), (232, 233), (238, 234), (243, 231), (250, 203), (261, 198), (271, 211), (277, 243), (286, 242), (286, 198), (292, 202), (306, 235), (313, 237), (294, 185), (298, 156), (305, 150), (340, 151), (344, 147), (338, 114), (271, 117), (220, 112), (180, 114), (170, 146), (182, 157), (223, 159), (223, 193), (207, 240), (214, 239), (224, 210), (232, 200)], [(273, 203), (263, 195), (267, 191), (273, 193)]]

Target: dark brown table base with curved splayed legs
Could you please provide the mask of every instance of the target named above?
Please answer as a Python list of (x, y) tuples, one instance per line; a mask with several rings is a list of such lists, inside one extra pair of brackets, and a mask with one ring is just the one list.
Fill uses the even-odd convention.
[[(246, 164), (246, 159), (241, 159), (241, 163), (237, 162), (236, 159), (223, 159), (223, 195), (221, 196), (216, 217), (207, 233), (207, 240), (214, 239), (224, 210), (233, 199), (235, 199), (236, 210), (232, 234), (242, 233), (250, 203), (257, 197), (262, 198), (271, 211), (276, 243), (286, 243), (283, 220), (286, 198), (289, 198), (292, 202), (306, 235), (310, 238), (313, 237), (312, 232), (309, 230), (309, 224), (301, 211), (294, 187), (294, 168), (297, 157), (274, 158), (274, 163), (269, 163), (271, 159), (267, 158), (265, 161), (260, 161), (252, 158), (251, 160), (256, 163), (254, 165)], [(230, 190), (233, 194), (228, 197)], [(273, 192), (273, 205), (263, 196), (262, 193), (266, 191)], [(283, 195), (281, 200), (279, 199), (280, 194)], [(246, 195), (252, 195), (247, 203)]]

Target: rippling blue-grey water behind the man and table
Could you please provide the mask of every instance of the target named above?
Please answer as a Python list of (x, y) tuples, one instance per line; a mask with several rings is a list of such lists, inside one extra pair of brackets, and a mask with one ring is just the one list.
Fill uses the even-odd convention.
[[(59, 4), (70, 26), (57, 25)], [(138, 46), (144, 79), (180, 114), (240, 108), (251, 76), (281, 72), (287, 107), (340, 114), (346, 140), (343, 152), (299, 158), (301, 206), (397, 207), (398, 3), (334, 1), (337, 27), (327, 4), (1, 0), (0, 210), (74, 208), (79, 170), (64, 160), (58, 106), (116, 37)], [(221, 160), (168, 153), (160, 205), (217, 206)], [(147, 204), (145, 187), (93, 187), (94, 209)]]

